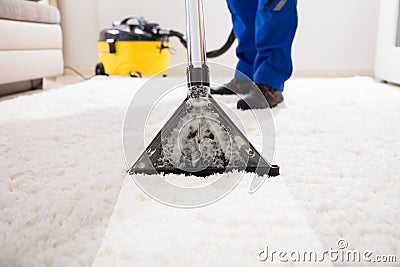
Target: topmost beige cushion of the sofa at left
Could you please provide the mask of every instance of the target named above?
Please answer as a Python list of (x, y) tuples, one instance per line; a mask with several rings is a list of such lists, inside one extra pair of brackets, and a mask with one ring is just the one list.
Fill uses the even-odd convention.
[(0, 19), (57, 24), (60, 12), (56, 7), (24, 0), (0, 0)]

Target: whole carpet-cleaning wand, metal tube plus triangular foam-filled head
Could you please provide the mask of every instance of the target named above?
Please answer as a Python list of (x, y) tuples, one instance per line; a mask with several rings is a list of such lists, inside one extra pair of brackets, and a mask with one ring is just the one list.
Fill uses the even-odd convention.
[(130, 174), (173, 173), (205, 177), (229, 171), (277, 176), (210, 96), (202, 0), (186, 0), (187, 98), (129, 170)]

